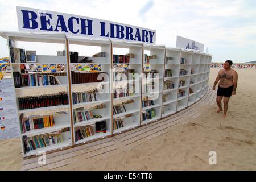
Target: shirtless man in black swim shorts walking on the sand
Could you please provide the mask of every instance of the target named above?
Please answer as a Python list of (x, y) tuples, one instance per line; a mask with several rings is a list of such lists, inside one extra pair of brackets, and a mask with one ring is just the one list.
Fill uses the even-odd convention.
[(218, 90), (217, 90), (217, 98), (216, 102), (218, 105), (218, 111), (216, 113), (220, 113), (222, 110), (221, 100), (223, 98), (224, 102), (224, 113), (222, 118), (226, 118), (226, 112), (228, 111), (228, 104), (229, 104), (229, 98), (232, 95), (236, 95), (236, 89), (237, 89), (237, 79), (238, 75), (237, 72), (234, 71), (234, 69), (231, 69), (233, 62), (228, 60), (224, 63), (224, 69), (221, 69), (218, 72), (218, 76), (214, 82), (213, 90), (215, 90), (216, 85), (218, 84), (218, 81), (220, 83), (218, 84)]

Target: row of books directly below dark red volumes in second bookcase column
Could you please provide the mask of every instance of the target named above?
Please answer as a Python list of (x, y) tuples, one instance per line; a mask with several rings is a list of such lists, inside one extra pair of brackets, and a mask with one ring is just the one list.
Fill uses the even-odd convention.
[(82, 102), (93, 102), (100, 100), (98, 89), (89, 90), (86, 92), (73, 92), (73, 104)]

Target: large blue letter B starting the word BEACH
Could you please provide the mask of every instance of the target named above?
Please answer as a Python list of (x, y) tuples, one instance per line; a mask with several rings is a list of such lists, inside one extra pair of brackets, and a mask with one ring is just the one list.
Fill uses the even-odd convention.
[[(34, 11), (21, 10), (23, 15), (23, 28), (36, 29), (38, 28), (38, 22), (35, 21), (38, 15)], [(31, 15), (31, 18), (30, 18)], [(32, 27), (30, 27), (30, 22)]]

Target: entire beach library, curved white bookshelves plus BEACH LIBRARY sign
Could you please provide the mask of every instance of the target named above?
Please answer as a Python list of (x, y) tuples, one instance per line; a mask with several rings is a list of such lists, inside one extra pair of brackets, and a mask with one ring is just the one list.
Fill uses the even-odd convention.
[(0, 36), (24, 158), (143, 127), (207, 93), (212, 56), (158, 46), (153, 30), (22, 7), (17, 14), (19, 31)]

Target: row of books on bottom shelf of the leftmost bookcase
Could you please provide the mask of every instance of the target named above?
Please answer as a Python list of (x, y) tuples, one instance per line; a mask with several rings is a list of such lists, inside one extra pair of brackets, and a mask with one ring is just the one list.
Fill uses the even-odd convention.
[(25, 135), (22, 137), (22, 140), (24, 144), (24, 153), (27, 154), (32, 150), (63, 142), (63, 135), (61, 133), (37, 135), (34, 137), (27, 137)]

